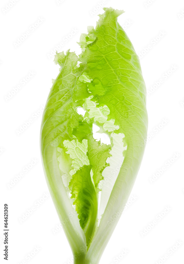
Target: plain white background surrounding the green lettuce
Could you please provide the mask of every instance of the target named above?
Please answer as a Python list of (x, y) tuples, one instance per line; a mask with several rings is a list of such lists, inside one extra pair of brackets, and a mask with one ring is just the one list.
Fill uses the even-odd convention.
[[(48, 188), (39, 149), (42, 105), (52, 86), (52, 78), (55, 79), (58, 74), (51, 53), (54, 54), (56, 49), (60, 52), (70, 48), (79, 54), (76, 41), (79, 41), (80, 34), (86, 33), (87, 26), (95, 26), (97, 14), (104, 12), (103, 7), (110, 6), (125, 11), (118, 17), (118, 22), (140, 56), (146, 87), (151, 92), (147, 95), (149, 129), (144, 159), (129, 198), (129, 206), (123, 212), (100, 263), (184, 263), (183, 1), (12, 2), (15, 3), (11, 4), (8, 0), (0, 3), (1, 263), (7, 263), (3, 260), (4, 203), (9, 206), (8, 263), (72, 263), (71, 249), (59, 227), (52, 200), (44, 196), (44, 193), (48, 194)], [(98, 3), (102, 3), (102, 7)], [(31, 25), (40, 18), (42, 23), (33, 30)], [(73, 29), (76, 32), (71, 36)], [(30, 34), (16, 45), (27, 31)], [(30, 79), (27, 77), (29, 80), (23, 84), (22, 80), (30, 71), (33, 76)], [(17, 91), (18, 85), (20, 89)], [(13, 88), (17, 92), (13, 92)], [(30, 119), (30, 125), (19, 133)], [(36, 164), (25, 172), (32, 159), (36, 159)], [(20, 173), (24, 173), (21, 178)], [(156, 173), (156, 180), (151, 182)], [(16, 176), (20, 180), (16, 180)], [(165, 207), (169, 208), (167, 213), (164, 213)], [(27, 214), (26, 220), (21, 220), (31, 208), (34, 211)], [(161, 219), (159, 214), (162, 214)], [(152, 225), (154, 220), (156, 224)], [(54, 234), (56, 228), (59, 231)], [(147, 233), (141, 233), (146, 232), (145, 228), (149, 229)], [(180, 241), (180, 245), (177, 241)], [(174, 247), (176, 244), (178, 247)], [(28, 260), (26, 256), (35, 247), (39, 251)], [(173, 247), (174, 252), (169, 250)], [(120, 259), (125, 249), (128, 253)]]

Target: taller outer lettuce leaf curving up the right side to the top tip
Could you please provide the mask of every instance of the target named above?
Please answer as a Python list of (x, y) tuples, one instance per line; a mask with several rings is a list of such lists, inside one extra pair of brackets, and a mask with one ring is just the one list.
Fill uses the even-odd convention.
[[(89, 91), (98, 106), (107, 105), (108, 120), (114, 119), (127, 144), (126, 155), (86, 259), (98, 263), (119, 220), (134, 185), (145, 149), (147, 135), (146, 87), (139, 58), (125, 31), (117, 23), (123, 11), (104, 8), (96, 29), (89, 35), (96, 41), (86, 46), (80, 61), (87, 64), (86, 74), (93, 79)], [(83, 65), (81, 65), (83, 67)], [(112, 221), (115, 218), (116, 220)], [(99, 250), (100, 248), (100, 250)]]

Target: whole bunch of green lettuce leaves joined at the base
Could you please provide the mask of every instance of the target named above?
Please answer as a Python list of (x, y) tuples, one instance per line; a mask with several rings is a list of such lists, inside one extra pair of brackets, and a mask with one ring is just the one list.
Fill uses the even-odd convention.
[[(61, 68), (41, 126), (46, 180), (76, 264), (99, 263), (134, 185), (148, 128), (139, 58), (117, 22), (123, 11), (104, 10), (96, 28), (81, 35), (79, 56), (56, 54)], [(94, 125), (111, 144), (95, 140)]]

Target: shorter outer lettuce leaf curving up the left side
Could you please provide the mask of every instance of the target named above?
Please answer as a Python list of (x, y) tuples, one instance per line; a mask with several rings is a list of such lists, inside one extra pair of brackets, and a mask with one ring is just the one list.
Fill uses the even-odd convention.
[[(87, 93), (87, 84), (81, 85), (81, 81), (78, 80), (81, 70), (77, 67), (77, 61), (77, 56), (68, 51), (66, 55), (61, 53), (56, 56), (55, 62), (58, 62), (62, 68), (50, 90), (43, 113), (41, 152), (48, 187), (73, 254), (81, 252), (81, 247), (83, 249), (78, 258), (80, 260), (86, 254), (86, 239), (75, 209), (72, 207), (72, 199), (68, 197), (68, 187), (62, 180), (63, 173), (59, 168), (57, 151), (58, 147), (64, 148), (64, 140), (73, 140), (73, 128), (78, 127), (82, 120), (82, 116), (75, 111), (76, 97), (80, 98), (79, 94), (81, 94), (81, 99), (83, 98), (82, 91), (84, 94)], [(76, 89), (77, 82), (79, 90)], [(75, 92), (76, 97), (73, 96)]]

